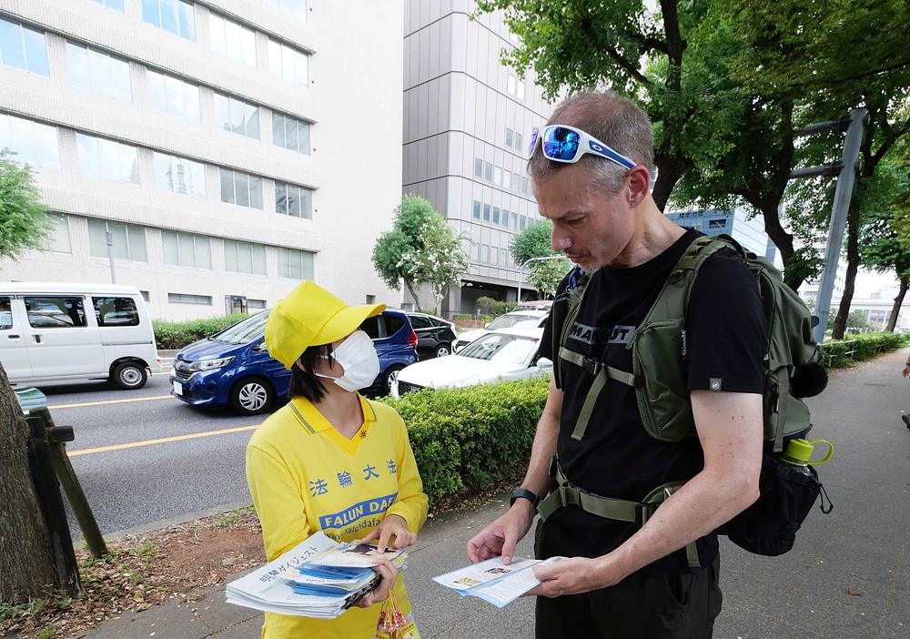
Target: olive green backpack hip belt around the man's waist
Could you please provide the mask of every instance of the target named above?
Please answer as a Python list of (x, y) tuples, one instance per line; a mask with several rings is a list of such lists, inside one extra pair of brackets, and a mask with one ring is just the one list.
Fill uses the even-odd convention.
[[(658, 486), (649, 492), (641, 502), (632, 502), (612, 497), (603, 497), (593, 492), (585, 491), (573, 485), (565, 473), (562, 472), (559, 459), (553, 457), (551, 462), (551, 475), (556, 480), (556, 490), (551, 492), (537, 506), (541, 520), (546, 520), (553, 512), (566, 506), (581, 508), (584, 512), (610, 519), (615, 522), (645, 524), (673, 492), (678, 491), (685, 482), (669, 482)], [(701, 567), (698, 559), (698, 549), (695, 543), (685, 547), (686, 560), (691, 568)]]

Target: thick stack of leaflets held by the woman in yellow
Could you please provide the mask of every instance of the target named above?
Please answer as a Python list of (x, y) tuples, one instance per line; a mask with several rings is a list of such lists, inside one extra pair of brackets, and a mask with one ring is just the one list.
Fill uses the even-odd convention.
[(399, 570), (403, 550), (379, 553), (375, 545), (339, 544), (316, 533), (274, 562), (227, 584), (227, 603), (267, 613), (333, 619), (379, 584), (372, 569), (377, 558)]

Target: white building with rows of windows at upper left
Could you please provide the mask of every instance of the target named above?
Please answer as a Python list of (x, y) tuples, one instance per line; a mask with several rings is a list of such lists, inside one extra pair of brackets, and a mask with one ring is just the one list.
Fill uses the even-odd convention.
[(368, 0), (5, 0), (0, 147), (56, 226), (0, 273), (109, 282), (110, 232), (153, 317), (267, 308), (307, 278), (397, 303), (370, 254), (400, 199), (403, 20)]

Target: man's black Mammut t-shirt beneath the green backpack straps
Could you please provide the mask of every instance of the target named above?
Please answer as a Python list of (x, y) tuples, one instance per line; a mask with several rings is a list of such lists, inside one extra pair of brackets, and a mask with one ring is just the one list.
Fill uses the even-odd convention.
[[(669, 249), (629, 269), (605, 267), (591, 275), (571, 350), (601, 360), (619, 370), (632, 371), (632, 350), (626, 348), (685, 249), (700, 234), (687, 230)], [(566, 289), (564, 279), (557, 297)], [(581, 325), (581, 326), (579, 326)], [(541, 355), (551, 353), (551, 320), (541, 340)], [(689, 300), (686, 317), (689, 390), (708, 390), (712, 380), (721, 391), (763, 392), (765, 321), (758, 283), (733, 249), (722, 249), (702, 265)], [(642, 427), (635, 391), (617, 380), (607, 380), (594, 404), (588, 429), (571, 439), (581, 406), (594, 376), (563, 362), (562, 402), (558, 455), (570, 482), (589, 492), (617, 499), (641, 501), (657, 486), (691, 479), (703, 468), (697, 438), (682, 443), (653, 439)], [(572, 506), (551, 515), (569, 528), (573, 538), (591, 556), (609, 553), (638, 530), (637, 524), (614, 522)], [(717, 538), (710, 534), (697, 543), (702, 565), (717, 555)], [(658, 573), (688, 570), (685, 551), (646, 566)]]

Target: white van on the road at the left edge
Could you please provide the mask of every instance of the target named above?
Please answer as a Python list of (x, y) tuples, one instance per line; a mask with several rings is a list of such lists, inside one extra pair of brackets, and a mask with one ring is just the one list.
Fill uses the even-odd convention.
[(0, 363), (11, 383), (105, 379), (142, 388), (160, 364), (138, 289), (0, 283)]

